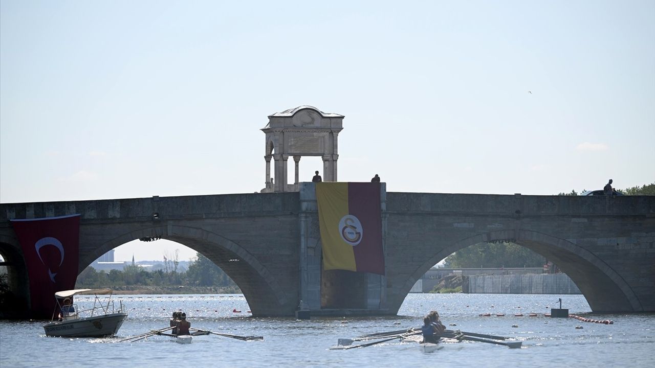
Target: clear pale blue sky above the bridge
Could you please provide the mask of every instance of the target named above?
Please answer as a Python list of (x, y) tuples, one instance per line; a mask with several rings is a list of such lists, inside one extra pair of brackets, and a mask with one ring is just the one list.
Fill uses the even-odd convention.
[(655, 2), (0, 1), (0, 202), (253, 193), (305, 104), (345, 115), (340, 181), (653, 183)]

